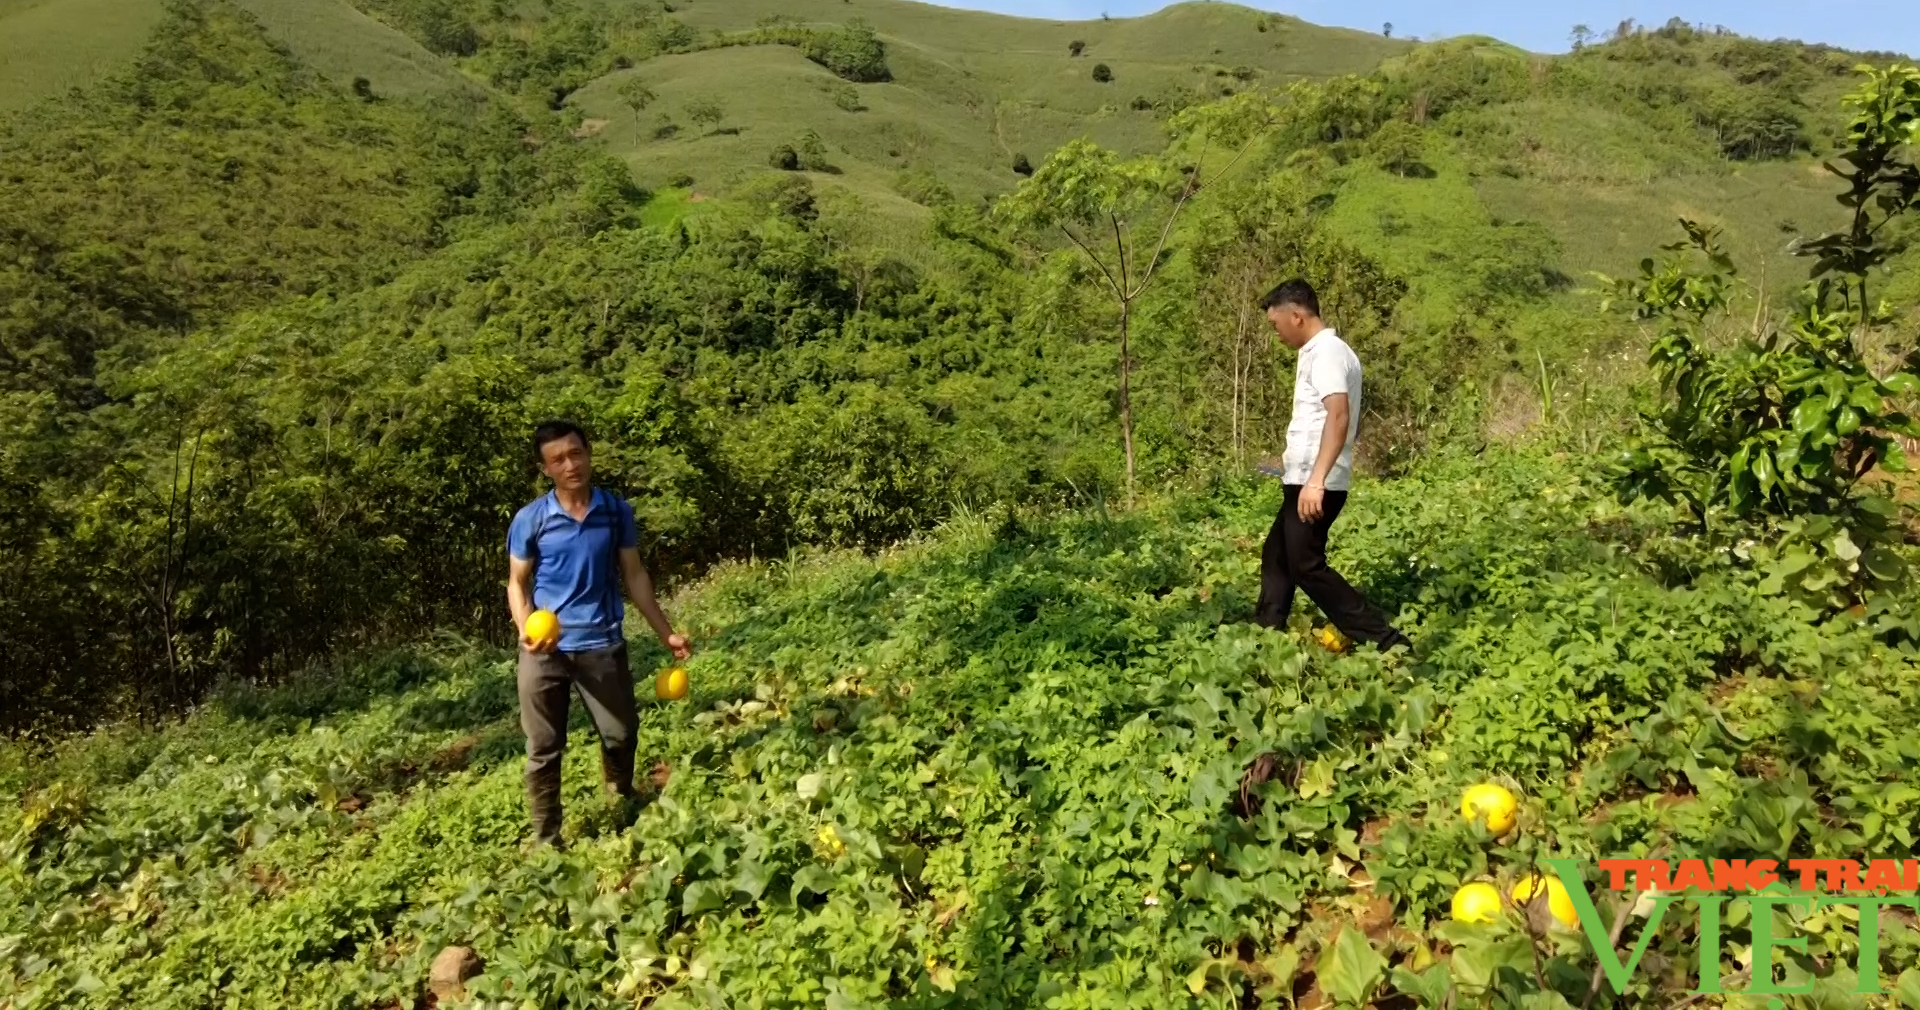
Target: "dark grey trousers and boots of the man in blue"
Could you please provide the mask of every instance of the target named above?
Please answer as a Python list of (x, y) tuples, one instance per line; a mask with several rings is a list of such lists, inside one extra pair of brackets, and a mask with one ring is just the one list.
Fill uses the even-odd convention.
[(520, 649), (520, 728), (526, 732), (526, 799), (534, 833), (561, 837), (561, 755), (566, 753), (566, 709), (580, 693), (601, 739), (601, 778), (620, 797), (634, 795), (634, 749), (639, 714), (626, 645), (586, 653), (534, 655)]

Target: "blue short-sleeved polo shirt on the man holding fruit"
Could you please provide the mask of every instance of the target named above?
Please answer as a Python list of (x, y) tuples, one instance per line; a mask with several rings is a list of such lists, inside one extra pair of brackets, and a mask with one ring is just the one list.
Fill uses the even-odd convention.
[(634, 507), (593, 488), (586, 518), (561, 507), (559, 495), (520, 509), (507, 526), (507, 553), (534, 563), (534, 607), (561, 618), (561, 651), (584, 653), (626, 641), (620, 549), (639, 545)]

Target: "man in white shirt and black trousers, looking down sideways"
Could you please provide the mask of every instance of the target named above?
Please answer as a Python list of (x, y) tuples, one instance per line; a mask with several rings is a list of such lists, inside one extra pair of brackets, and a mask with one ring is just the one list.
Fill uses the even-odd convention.
[(1340, 518), (1354, 480), (1359, 357), (1321, 321), (1319, 296), (1306, 280), (1281, 284), (1260, 307), (1267, 311), (1281, 344), (1300, 351), (1300, 363), (1281, 474), (1286, 499), (1260, 555), (1260, 603), (1254, 620), (1284, 628), (1294, 609), (1294, 588), (1300, 588), (1346, 637), (1371, 641), (1382, 653), (1394, 645), (1411, 645), (1379, 607), (1327, 566), (1327, 530)]

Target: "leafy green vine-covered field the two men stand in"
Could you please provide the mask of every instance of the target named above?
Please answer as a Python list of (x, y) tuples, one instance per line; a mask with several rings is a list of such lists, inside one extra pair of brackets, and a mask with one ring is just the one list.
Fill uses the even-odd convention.
[[(463, 943), (476, 1006), (1580, 1004), (1580, 937), (1436, 926), (1453, 887), (1920, 830), (1910, 639), (1812, 624), (1582, 472), (1492, 447), (1359, 493), (1336, 565), (1419, 657), (1238, 620), (1273, 484), (724, 568), (676, 601), (657, 801), (599, 805), (580, 726), (563, 854), (520, 847), (511, 661), (459, 641), (0, 751), (0, 1002), (420, 1006)], [(1486, 778), (1507, 839), (1457, 816)], [(1795, 1006), (1862, 1004), (1853, 926), (1795, 927)], [(1920, 933), (1882, 927), (1910, 981)], [(1692, 945), (1601, 1002), (1684, 997)]]

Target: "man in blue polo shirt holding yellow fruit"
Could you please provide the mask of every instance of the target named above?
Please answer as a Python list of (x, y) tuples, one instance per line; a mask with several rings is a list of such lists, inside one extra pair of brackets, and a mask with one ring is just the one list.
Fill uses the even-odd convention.
[[(566, 421), (549, 421), (534, 430), (534, 455), (553, 480), (553, 492), (520, 509), (507, 528), (507, 607), (520, 630), (520, 728), (526, 730), (534, 835), (557, 843), (570, 691), (580, 691), (599, 732), (607, 789), (620, 799), (634, 797), (639, 714), (622, 632), (622, 589), (674, 659), (687, 659), (689, 647), (660, 613), (653, 578), (639, 563), (634, 507), (593, 486), (586, 432)], [(553, 611), (561, 618), (559, 637), (528, 637), (526, 618), (534, 611)]]

